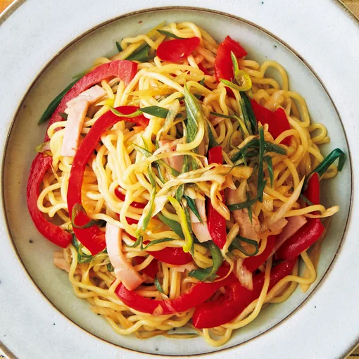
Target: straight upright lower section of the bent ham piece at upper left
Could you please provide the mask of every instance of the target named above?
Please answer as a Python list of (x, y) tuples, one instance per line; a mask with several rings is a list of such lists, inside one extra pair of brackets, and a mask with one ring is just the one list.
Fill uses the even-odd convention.
[(78, 101), (68, 109), (68, 120), (66, 120), (65, 134), (61, 156), (75, 156), (80, 144), (80, 136), (84, 118), (89, 108), (89, 101)]

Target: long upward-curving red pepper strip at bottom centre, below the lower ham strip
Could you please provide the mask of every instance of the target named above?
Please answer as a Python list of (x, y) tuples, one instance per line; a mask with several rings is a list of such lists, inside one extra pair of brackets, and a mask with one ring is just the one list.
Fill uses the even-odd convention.
[[(227, 269), (225, 269), (225, 266), (222, 266), (219, 272), (221, 272), (221, 277), (223, 277), (227, 272)], [(156, 301), (144, 298), (143, 296), (139, 296), (139, 294), (135, 291), (129, 291), (122, 284), (115, 289), (115, 294), (118, 295), (122, 303), (134, 310), (138, 310), (142, 313), (153, 314), (153, 312), (158, 310), (158, 307), (160, 307), (163, 310), (163, 313), (161, 314), (167, 315), (185, 312), (198, 306), (213, 296), (213, 294), (215, 294), (221, 286), (227, 286), (235, 280), (234, 275), (231, 274), (222, 281), (211, 283), (199, 282), (194, 284), (194, 286), (192, 286), (187, 293), (168, 301)]]

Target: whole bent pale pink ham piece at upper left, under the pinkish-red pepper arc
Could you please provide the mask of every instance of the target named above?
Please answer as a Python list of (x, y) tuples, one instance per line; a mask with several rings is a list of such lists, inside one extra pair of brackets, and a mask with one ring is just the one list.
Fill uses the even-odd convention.
[(66, 120), (65, 134), (63, 135), (61, 156), (75, 156), (80, 145), (81, 130), (87, 110), (92, 103), (105, 95), (106, 91), (96, 85), (66, 103), (68, 108), (65, 109), (65, 113), (68, 114), (68, 119)]

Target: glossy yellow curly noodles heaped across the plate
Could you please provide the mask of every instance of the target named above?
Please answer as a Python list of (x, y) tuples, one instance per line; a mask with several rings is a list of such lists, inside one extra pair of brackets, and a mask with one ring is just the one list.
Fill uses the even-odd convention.
[[(199, 47), (182, 61), (176, 63), (161, 61), (158, 56), (149, 61), (138, 61), (137, 74), (127, 85), (118, 77), (108, 81), (103, 80), (98, 85), (106, 92), (106, 95), (89, 107), (81, 130), (82, 137), (85, 137), (101, 115), (118, 106), (137, 106), (139, 108), (158, 106), (168, 109), (169, 113), (172, 114), (172, 123), (169, 127), (164, 126), (165, 119), (146, 113), (144, 116), (149, 119), (149, 125), (146, 127), (132, 127), (124, 121), (116, 123), (101, 135), (101, 141), (96, 146), (96, 152), (92, 154), (84, 172), (82, 184), (84, 210), (92, 220), (102, 220), (122, 229), (122, 253), (126, 260), (134, 265), (137, 272), (141, 272), (151, 265), (154, 260), (151, 251), (171, 247), (180, 248), (184, 245), (183, 239), (178, 234), (156, 216), (153, 216), (144, 235), (146, 241), (163, 238), (170, 238), (172, 241), (155, 244), (149, 247), (148, 251), (141, 251), (139, 246), (132, 246), (134, 244), (133, 237), (137, 237), (138, 233), (137, 226), (129, 224), (129, 219), (140, 220), (143, 209), (135, 208), (130, 204), (132, 202), (147, 203), (150, 200), (153, 187), (149, 180), (148, 168), (154, 160), (168, 160), (170, 156), (176, 156), (176, 154), (189, 154), (192, 158), (199, 159), (196, 162), (199, 163), (199, 168), (196, 170), (199, 175), (183, 174), (181, 180), (172, 178), (171, 185), (177, 188), (180, 184), (196, 183), (196, 186), (186, 187), (185, 194), (187, 196), (194, 199), (206, 196), (213, 202), (218, 202), (220, 184), (216, 182), (215, 171), (211, 171), (215, 167), (208, 165), (206, 160), (201, 162), (203, 157), (199, 153), (193, 152), (199, 143), (196, 141), (191, 143), (177, 141), (180, 146), (177, 146), (177, 149), (175, 148), (170, 153), (161, 151), (161, 147), (158, 149), (155, 147), (154, 139), (174, 141), (182, 137), (182, 133), (180, 133), (183, 130), (181, 123), (185, 118), (186, 111), (183, 101), (184, 85), (187, 85), (189, 92), (201, 98), (201, 106), (208, 119), (208, 128), (205, 131), (206, 133), (210, 131), (217, 144), (222, 146), (223, 166), (232, 168), (238, 164), (237, 168), (245, 171), (246, 166), (243, 165), (243, 161), (241, 162), (239, 158), (237, 163), (233, 163), (232, 158), (238, 149), (248, 144), (251, 139), (258, 138), (258, 134), (245, 136), (244, 129), (241, 128), (241, 124), (243, 125), (241, 117), (237, 120), (211, 114), (229, 116), (233, 113), (242, 113), (239, 106), (240, 92), (235, 89), (231, 90), (224, 83), (216, 80), (214, 65), (218, 43), (213, 37), (194, 23), (189, 22), (161, 24), (159, 28), (163, 32), (156, 32), (155, 30), (149, 34), (122, 39), (120, 42), (122, 51), (113, 58), (98, 58), (94, 67), (89, 70), (93, 70), (103, 63), (128, 58), (144, 43), (149, 45), (149, 53), (154, 55), (162, 42), (165, 40), (172, 41), (166, 37), (165, 32), (170, 32), (180, 38), (198, 37), (200, 39)], [(237, 40), (240, 41), (240, 39)], [(252, 87), (247, 92), (248, 98), (251, 97), (270, 111), (283, 108), (290, 125), (288, 130), (279, 134), (275, 139), (268, 132), (268, 125), (261, 127), (264, 130), (266, 141), (282, 146), (280, 145), (281, 142), (290, 137), (291, 142), (289, 146), (282, 146), (286, 149), (286, 155), (270, 153), (273, 185), (271, 186), (270, 181), (267, 181), (263, 193), (263, 202), (256, 201), (252, 207), (253, 220), (259, 215), (260, 225), (262, 225), (257, 239), (258, 256), (265, 251), (268, 236), (279, 234), (282, 231), (282, 227), (273, 229), (270, 222), (265, 224), (265, 218), (270, 218), (280, 208), (284, 208), (283, 206), (290, 201), (296, 189), (299, 192), (301, 191), (303, 178), (322, 163), (324, 158), (318, 146), (329, 142), (329, 137), (325, 125), (310, 123), (306, 101), (301, 94), (289, 89), (288, 77), (282, 65), (275, 61), (265, 61), (260, 64), (247, 58), (238, 58), (238, 63), (239, 68), (251, 79)], [(232, 63), (230, 65), (232, 66)], [(207, 70), (207, 74), (203, 73), (203, 68)], [(275, 74), (273, 77), (267, 75), (268, 69), (270, 69), (271, 74)], [(71, 215), (68, 213), (66, 196), (73, 157), (61, 156), (66, 123), (67, 121), (58, 121), (48, 129), (52, 169), (46, 172), (44, 176), (37, 206), (44, 215), (56, 219), (56, 223), (60, 224), (62, 229), (71, 231), (72, 221)], [(200, 140), (202, 141), (202, 139)], [(144, 156), (137, 146), (154, 152), (152, 158)], [(154, 168), (153, 173), (157, 187), (156, 196), (159, 193), (164, 193), (165, 197), (169, 194), (175, 196), (175, 193), (170, 193), (170, 189), (167, 192), (165, 191), (167, 182), (160, 181), (158, 172)], [(336, 165), (330, 165), (321, 179), (334, 177), (336, 174)], [(265, 170), (265, 178), (269, 179), (268, 176), (269, 174)], [(227, 178), (226, 185), (228, 187), (233, 187), (234, 182), (232, 180), (231, 177)], [(245, 188), (248, 198), (253, 199), (258, 190), (256, 181), (256, 176), (249, 177), (244, 174), (241, 178), (236, 179), (236, 186)], [(115, 190), (119, 188), (122, 189), (125, 196), (124, 201), (115, 195)], [(163, 215), (170, 220), (180, 222), (179, 214), (171, 208), (168, 205), (163, 207)], [(337, 206), (328, 209), (320, 204), (306, 206), (300, 199), (296, 199), (289, 208), (286, 208), (280, 218), (288, 219), (295, 216), (327, 218), (337, 210), (339, 210)], [(263, 213), (265, 218), (263, 218)], [(227, 220), (226, 225), (227, 241), (221, 253), (228, 263), (228, 271), (237, 275), (237, 267), (243, 263), (243, 259), (247, 255), (238, 249), (234, 249), (232, 252), (229, 252), (228, 249), (232, 240), (240, 234), (241, 227), (233, 215)], [(78, 248), (74, 244), (70, 244), (67, 248), (56, 251), (54, 260), (58, 267), (68, 272), (68, 278), (73, 285), (75, 294), (79, 298), (86, 298), (92, 311), (103, 315), (118, 334), (136, 334), (143, 339), (156, 335), (175, 338), (201, 335), (208, 344), (221, 346), (230, 339), (234, 329), (244, 327), (255, 320), (263, 306), (268, 303), (285, 301), (296, 290), (298, 284), (303, 291), (308, 290), (316, 278), (321, 242), (322, 239), (317, 241), (308, 253), (307, 251), (301, 253), (301, 261), (306, 268), (303, 275), (298, 275), (297, 262), (291, 273), (280, 279), (271, 289), (270, 272), (272, 266), (275, 265), (272, 263), (275, 263), (276, 258), (269, 256), (257, 270), (257, 272), (264, 273), (263, 287), (259, 297), (249, 303), (241, 314), (232, 321), (210, 329), (198, 329), (192, 325), (191, 318), (194, 308), (182, 313), (163, 315), (160, 312), (141, 313), (126, 306), (115, 293), (115, 289), (121, 280), (116, 278), (113, 270), (111, 270), (111, 263), (106, 251), (91, 256), (86, 248), (82, 248), (83, 257), (79, 256)], [(146, 285), (140, 285), (136, 289), (136, 293), (144, 298), (162, 299), (164, 301), (178, 298), (181, 294), (187, 293), (191, 286), (199, 282), (196, 277), (189, 276), (189, 272), (193, 269), (213, 265), (213, 258), (208, 246), (197, 241), (194, 244), (193, 256), (193, 263), (188, 267), (182, 266), (180, 270), (175, 265), (159, 261), (156, 277), (162, 288), (162, 293), (158, 291), (158, 286), (153, 283), (153, 280), (147, 280)], [(82, 263), (78, 262), (79, 258)], [(88, 260), (83, 260), (83, 258), (88, 258)], [(144, 258), (144, 260), (135, 261), (134, 258)], [(220, 289), (212, 299), (218, 298), (224, 291), (225, 289)], [(187, 328), (187, 330), (182, 331), (183, 334), (170, 332), (171, 329), (182, 327)]]

